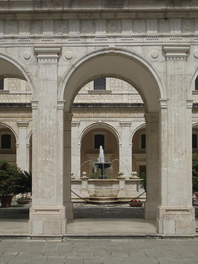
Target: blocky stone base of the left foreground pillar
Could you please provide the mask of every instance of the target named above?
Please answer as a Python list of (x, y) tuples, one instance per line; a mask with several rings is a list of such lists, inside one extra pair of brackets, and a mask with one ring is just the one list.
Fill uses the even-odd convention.
[[(66, 233), (67, 219), (65, 207), (31, 207), (29, 233), (36, 237), (61, 235)], [(38, 236), (34, 236), (38, 235)]]

